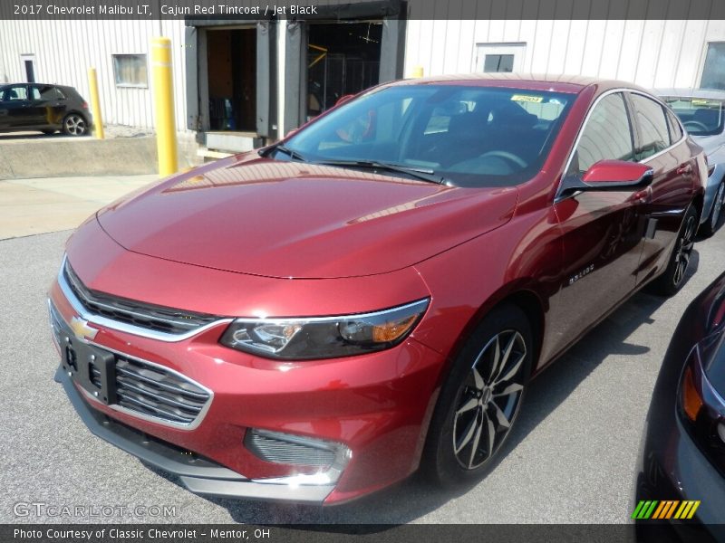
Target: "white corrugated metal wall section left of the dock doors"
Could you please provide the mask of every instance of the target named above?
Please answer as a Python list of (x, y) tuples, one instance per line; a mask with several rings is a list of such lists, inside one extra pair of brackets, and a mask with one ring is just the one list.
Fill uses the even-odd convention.
[[(0, 81), (25, 81), (21, 55), (34, 54), (35, 80), (72, 85), (89, 100), (89, 67), (98, 72), (103, 121), (150, 129), (153, 105), (150, 39), (171, 39), (176, 123), (186, 129), (183, 21), (0, 21)], [(116, 87), (111, 55), (147, 54), (149, 88)]]

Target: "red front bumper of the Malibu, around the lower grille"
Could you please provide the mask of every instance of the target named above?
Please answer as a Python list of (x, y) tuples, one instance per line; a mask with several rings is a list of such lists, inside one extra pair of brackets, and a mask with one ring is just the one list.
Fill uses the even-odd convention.
[[(66, 324), (78, 316), (57, 281), (51, 304)], [(198, 420), (179, 426), (107, 405), (65, 372), (56, 376), (92, 433), (178, 475), (190, 491), (333, 504), (400, 481), (420, 462), (443, 357), (413, 339), (370, 355), (292, 363), (220, 346), (226, 323), (168, 342), (83, 317), (98, 329), (93, 348), (168, 368), (211, 393)], [(352, 457), (330, 481), (309, 465), (263, 460), (246, 446), (250, 429), (341, 443)]]

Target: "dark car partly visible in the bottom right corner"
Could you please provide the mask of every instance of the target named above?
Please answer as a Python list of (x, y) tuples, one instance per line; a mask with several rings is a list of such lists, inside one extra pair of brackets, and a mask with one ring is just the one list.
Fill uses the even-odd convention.
[(725, 273), (682, 316), (647, 414), (636, 479), (638, 541), (722, 541)]

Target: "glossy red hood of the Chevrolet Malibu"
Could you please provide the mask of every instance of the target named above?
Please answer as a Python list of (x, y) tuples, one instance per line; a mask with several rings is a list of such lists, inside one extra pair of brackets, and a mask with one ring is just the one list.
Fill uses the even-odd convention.
[(132, 252), (280, 278), (384, 273), (507, 223), (517, 189), (457, 188), (339, 167), (225, 159), (102, 209)]

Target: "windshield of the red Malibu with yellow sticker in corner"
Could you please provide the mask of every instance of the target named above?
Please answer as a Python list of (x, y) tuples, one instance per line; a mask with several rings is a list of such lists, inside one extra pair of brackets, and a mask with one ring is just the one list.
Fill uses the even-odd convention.
[(372, 90), (302, 129), (273, 157), (376, 165), (453, 186), (513, 186), (541, 169), (574, 98), (462, 85)]

